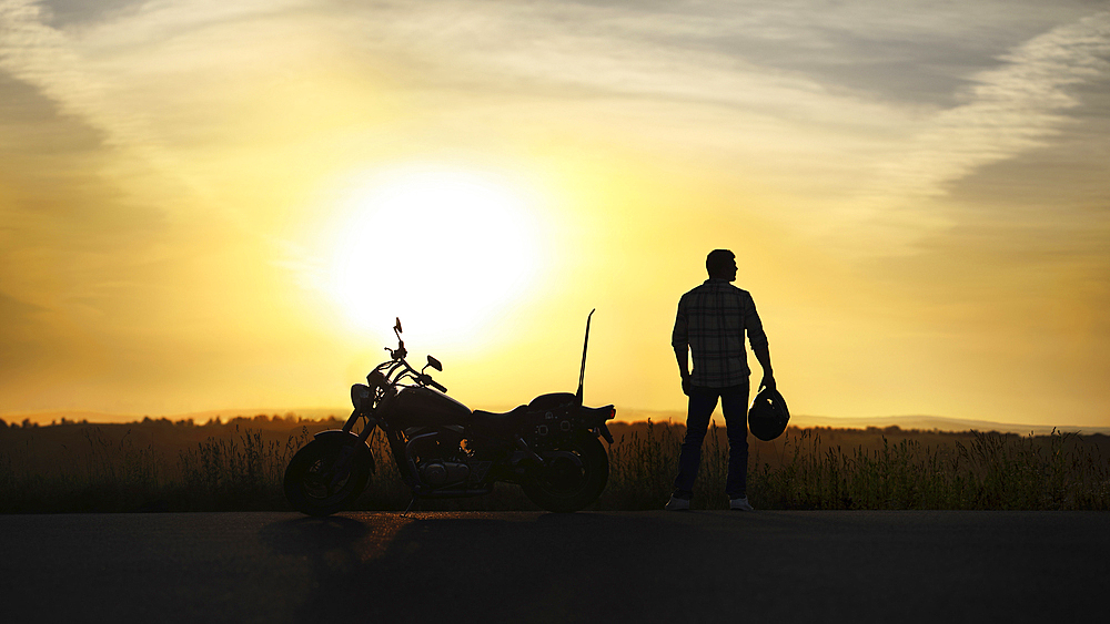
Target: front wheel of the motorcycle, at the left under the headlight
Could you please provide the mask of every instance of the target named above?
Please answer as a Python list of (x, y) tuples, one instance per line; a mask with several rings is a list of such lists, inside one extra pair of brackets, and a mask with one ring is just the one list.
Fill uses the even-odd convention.
[[(336, 472), (334, 463), (345, 451), (351, 453), (347, 466)], [(301, 513), (331, 515), (366, 489), (370, 471), (369, 453), (362, 452), (357, 442), (313, 440), (285, 468), (285, 500)]]

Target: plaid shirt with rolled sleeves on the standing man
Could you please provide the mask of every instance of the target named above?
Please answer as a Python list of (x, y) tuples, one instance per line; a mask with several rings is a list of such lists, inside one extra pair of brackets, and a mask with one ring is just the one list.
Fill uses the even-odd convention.
[(689, 346), (694, 356), (693, 386), (727, 388), (747, 380), (748, 354), (744, 330), (753, 347), (766, 346), (767, 335), (747, 290), (725, 279), (706, 279), (678, 301), (678, 317), (670, 344)]

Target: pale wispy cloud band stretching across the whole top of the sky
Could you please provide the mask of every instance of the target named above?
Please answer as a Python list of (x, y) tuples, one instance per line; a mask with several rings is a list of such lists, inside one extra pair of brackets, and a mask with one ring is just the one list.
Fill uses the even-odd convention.
[[(203, 132), (205, 120), (196, 115), (218, 112), (220, 98), (244, 96), (236, 89), (252, 64), (282, 63), (287, 57), (278, 50), (290, 47), (332, 48), (354, 62), (391, 63), (400, 89), (447, 93), (438, 101), (461, 119), (467, 105), (480, 105), (474, 99), (491, 98), (517, 119), (532, 109), (557, 123), (562, 111), (616, 130), (625, 116), (639, 135), (628, 139), (656, 141), (656, 149), (708, 149), (760, 176), (793, 168), (794, 181), (777, 183), (823, 181), (824, 192), (815, 193), (887, 205), (935, 196), (976, 167), (1059, 132), (1062, 112), (1077, 104), (1068, 89), (1103, 71), (1108, 21), (1099, 13), (1060, 25), (990, 60), (985, 53), (1000, 44), (1000, 32), (1025, 32), (1048, 18), (1036, 6), (953, 11), (934, 2), (898, 11), (866, 2), (339, 9), (152, 2), (59, 30), (40, 6), (8, 0), (0, 4), (0, 68), (102, 130), (108, 144), (138, 151), (164, 172), (182, 168), (171, 152), (184, 127)], [(985, 29), (990, 20), (1002, 27)], [(952, 48), (968, 52), (965, 63), (970, 57), (1001, 65), (971, 75), (957, 73), (966, 67), (938, 69), (956, 62), (945, 52)], [(886, 79), (907, 74), (918, 78)], [(938, 108), (951, 88), (968, 82), (965, 102)], [(946, 86), (949, 94), (934, 93)], [(894, 101), (891, 89), (902, 90)], [(455, 114), (433, 108), (421, 113)], [(876, 183), (865, 184), (865, 175)]]

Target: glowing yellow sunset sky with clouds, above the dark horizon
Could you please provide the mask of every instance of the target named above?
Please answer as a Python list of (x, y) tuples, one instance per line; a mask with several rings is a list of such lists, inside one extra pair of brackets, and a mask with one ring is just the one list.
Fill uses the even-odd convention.
[(0, 0), (9, 420), (683, 410), (714, 248), (793, 413), (1110, 426), (1110, 2)]

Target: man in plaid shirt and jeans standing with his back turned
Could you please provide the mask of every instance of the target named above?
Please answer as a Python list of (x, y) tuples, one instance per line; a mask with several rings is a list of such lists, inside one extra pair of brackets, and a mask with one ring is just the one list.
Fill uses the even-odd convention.
[[(694, 480), (702, 462), (702, 442), (709, 427), (709, 417), (720, 399), (728, 436), (728, 479), (725, 493), (729, 509), (751, 511), (747, 497), (748, 473), (748, 375), (744, 333), (763, 367), (760, 386), (775, 388), (770, 368), (770, 351), (755, 301), (747, 290), (729, 284), (736, 279), (736, 256), (728, 249), (714, 249), (705, 259), (709, 274), (697, 288), (683, 295), (670, 344), (678, 359), (683, 393), (689, 397), (686, 416), (686, 439), (678, 457), (675, 491), (667, 503), (670, 511), (690, 508)], [(694, 356), (690, 372), (687, 349)]]

